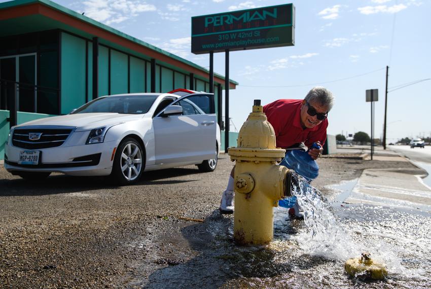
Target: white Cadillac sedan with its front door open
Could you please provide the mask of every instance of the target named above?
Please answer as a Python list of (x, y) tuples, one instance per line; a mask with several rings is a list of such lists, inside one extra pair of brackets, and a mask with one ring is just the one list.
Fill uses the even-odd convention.
[(5, 168), (23, 178), (51, 172), (111, 175), (136, 182), (143, 171), (195, 164), (213, 171), (220, 128), (213, 94), (190, 90), (94, 99), (69, 115), (12, 127)]

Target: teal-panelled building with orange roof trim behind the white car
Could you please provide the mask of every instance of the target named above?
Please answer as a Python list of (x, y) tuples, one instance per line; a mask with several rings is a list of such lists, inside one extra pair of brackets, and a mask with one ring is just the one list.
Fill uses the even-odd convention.
[[(214, 74), (213, 83), (221, 122), (225, 79)], [(102, 95), (176, 88), (209, 92), (209, 71), (48, 0), (0, 3), (0, 159), (11, 124)]]

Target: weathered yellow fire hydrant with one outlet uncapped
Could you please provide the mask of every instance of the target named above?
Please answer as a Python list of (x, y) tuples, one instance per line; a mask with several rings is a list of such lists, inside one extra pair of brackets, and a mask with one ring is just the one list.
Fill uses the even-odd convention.
[(291, 196), (292, 171), (276, 165), (285, 150), (275, 147), (274, 128), (263, 113), (260, 100), (242, 125), (237, 145), (229, 148), (235, 161), (234, 241), (265, 244), (274, 235), (273, 207)]

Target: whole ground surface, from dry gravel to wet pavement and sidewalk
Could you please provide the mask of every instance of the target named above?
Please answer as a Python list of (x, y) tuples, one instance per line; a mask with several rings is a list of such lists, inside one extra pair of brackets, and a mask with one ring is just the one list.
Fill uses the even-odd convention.
[[(274, 240), (249, 247), (233, 243), (233, 215), (218, 211), (226, 155), (213, 173), (151, 172), (131, 187), (61, 175), (32, 186), (0, 168), (0, 287), (428, 288), (424, 171), (393, 153), (351, 154), (361, 152), (318, 161), (313, 185), (328, 205), (315, 222), (326, 234), (311, 238), (310, 223), (275, 208)], [(363, 250), (387, 264), (385, 280), (345, 274)]]

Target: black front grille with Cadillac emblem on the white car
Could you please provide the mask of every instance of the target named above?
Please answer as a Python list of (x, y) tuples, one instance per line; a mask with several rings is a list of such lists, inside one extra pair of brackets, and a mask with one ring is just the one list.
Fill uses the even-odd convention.
[[(55, 148), (61, 146), (69, 136), (72, 129), (57, 129), (57, 128), (31, 128), (31, 129), (14, 129), (12, 135), (12, 144), (15, 147), (27, 150), (37, 150), (46, 148)], [(30, 135), (35, 135), (35, 138), (30, 139)]]

